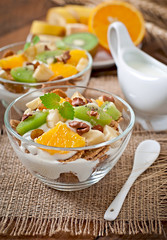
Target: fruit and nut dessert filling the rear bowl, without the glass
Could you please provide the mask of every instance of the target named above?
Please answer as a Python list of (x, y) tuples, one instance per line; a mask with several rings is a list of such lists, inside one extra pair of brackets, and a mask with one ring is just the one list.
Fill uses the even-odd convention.
[[(88, 61), (84, 50), (59, 49), (54, 42), (40, 42), (39, 37), (35, 36), (32, 42), (24, 45), (24, 49), (16, 53), (11, 50), (5, 52), (0, 59), (0, 78), (10, 80), (10, 83), (3, 81), (4, 89), (12, 93), (25, 93), (26, 84), (36, 86), (41, 83), (42, 86), (45, 82), (82, 75)], [(18, 82), (23, 85), (17, 85)]]

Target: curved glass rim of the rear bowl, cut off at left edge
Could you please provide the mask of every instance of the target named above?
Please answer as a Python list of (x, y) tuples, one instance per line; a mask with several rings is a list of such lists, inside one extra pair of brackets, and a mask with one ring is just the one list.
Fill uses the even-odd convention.
[[(15, 42), (15, 43), (8, 44), (8, 45), (6, 45), (4, 47), (1, 47), (0, 48), (0, 52), (2, 52), (4, 50), (7, 50), (10, 47), (19, 46), (19, 45), (24, 44), (24, 43), (26, 43), (26, 41)], [(79, 48), (77, 48), (77, 49), (79, 49)], [(28, 86), (28, 87), (34, 87), (34, 86), (41, 86), (42, 84), (47, 85), (47, 84), (62, 83), (62, 82), (68, 81), (68, 80), (72, 80), (73, 78), (77, 78), (77, 77), (82, 76), (84, 73), (86, 73), (92, 67), (92, 64), (93, 64), (92, 56), (87, 51), (86, 51), (86, 54), (87, 54), (87, 57), (88, 57), (88, 65), (86, 66), (86, 68), (83, 69), (81, 72), (79, 72), (77, 74), (74, 74), (74, 75), (72, 75), (70, 77), (66, 77), (66, 78), (63, 78), (63, 79), (55, 80), (55, 81), (52, 81), (52, 82), (45, 81), (45, 82), (39, 82), (39, 83), (38, 82), (37, 83), (17, 82), (17, 81), (8, 80), (8, 79), (1, 78), (1, 77), (0, 77), (0, 81), (3, 82), (3, 83), (11, 83), (11, 84), (24, 85), (24, 86)]]

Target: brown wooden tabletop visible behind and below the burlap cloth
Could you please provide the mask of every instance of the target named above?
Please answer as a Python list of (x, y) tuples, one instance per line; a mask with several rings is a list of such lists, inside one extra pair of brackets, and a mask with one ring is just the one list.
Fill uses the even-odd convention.
[[(18, 41), (23, 41), (26, 39), (26, 36), (29, 33), (31, 21), (33, 19), (44, 18), (46, 11), (48, 8), (53, 6), (53, 3), (48, 0), (38, 0), (38, 8), (36, 8), (35, 4), (37, 1), (34, 0), (5, 0), (0, 1), (0, 47)], [(8, 11), (7, 11), (8, 9)], [(28, 12), (28, 14), (25, 14)], [(107, 72), (108, 73), (108, 72)], [(99, 72), (93, 72), (93, 75), (98, 75)], [(2, 105), (0, 103), (0, 108)], [(1, 125), (2, 119), (0, 119)], [(164, 234), (163, 235), (143, 235), (137, 234), (133, 236), (129, 235), (115, 235), (111, 234), (108, 237), (97, 237), (94, 238), (92, 236), (70, 236), (68, 233), (57, 233), (54, 237), (10, 237), (10, 236), (0, 236), (0, 239), (28, 239), (28, 240), (53, 240), (53, 239), (82, 239), (82, 240), (91, 240), (91, 239), (99, 239), (99, 240), (139, 240), (139, 239), (147, 239), (147, 240), (165, 240), (167, 233), (167, 223), (164, 222)]]

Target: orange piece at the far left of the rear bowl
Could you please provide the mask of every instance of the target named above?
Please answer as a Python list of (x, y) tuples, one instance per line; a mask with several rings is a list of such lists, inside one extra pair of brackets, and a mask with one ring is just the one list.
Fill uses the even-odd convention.
[(0, 59), (0, 67), (4, 69), (21, 67), (26, 60), (27, 59), (22, 54), (12, 55), (12, 56)]

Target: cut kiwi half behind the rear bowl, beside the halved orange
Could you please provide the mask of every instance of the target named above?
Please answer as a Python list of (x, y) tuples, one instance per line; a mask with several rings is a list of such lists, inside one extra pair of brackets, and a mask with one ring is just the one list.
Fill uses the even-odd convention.
[(87, 50), (92, 55), (95, 55), (98, 38), (92, 33), (73, 33), (62, 40), (67, 46), (75, 46)]

